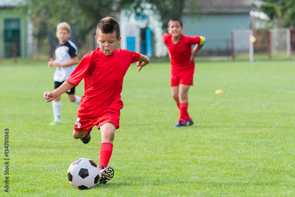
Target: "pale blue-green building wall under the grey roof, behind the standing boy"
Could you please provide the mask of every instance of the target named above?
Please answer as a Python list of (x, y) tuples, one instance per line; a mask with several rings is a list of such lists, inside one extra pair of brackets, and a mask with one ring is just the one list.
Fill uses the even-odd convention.
[(184, 31), (188, 36), (204, 36), (206, 43), (199, 52), (200, 54), (222, 55), (231, 52), (231, 31), (232, 29), (250, 28), (250, 14), (208, 14), (203, 18), (196, 15), (183, 15)]

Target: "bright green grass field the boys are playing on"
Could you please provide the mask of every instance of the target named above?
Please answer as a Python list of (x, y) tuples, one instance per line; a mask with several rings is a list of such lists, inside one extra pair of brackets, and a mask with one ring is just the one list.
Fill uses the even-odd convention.
[[(124, 77), (120, 128), (109, 166), (114, 178), (91, 190), (67, 180), (71, 162), (98, 162), (101, 134), (72, 137), (78, 105), (62, 96), (61, 126), (48, 126), (54, 68), (46, 61), (0, 61), (1, 194), (9, 158), (9, 196), (294, 196), (294, 61), (196, 62), (189, 90), (194, 126), (173, 128), (168, 62)], [(223, 94), (214, 94), (222, 89)], [(83, 95), (83, 83), (76, 94)], [(9, 129), (9, 157), (4, 129)]]

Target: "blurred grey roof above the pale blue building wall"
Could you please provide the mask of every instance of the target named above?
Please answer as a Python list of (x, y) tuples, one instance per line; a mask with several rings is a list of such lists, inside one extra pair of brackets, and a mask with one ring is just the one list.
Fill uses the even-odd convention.
[[(199, 3), (197, 5), (195, 2)], [(234, 13), (249, 13), (255, 10), (255, 7), (262, 4), (259, 0), (186, 0), (183, 8), (184, 14), (234, 14)]]

